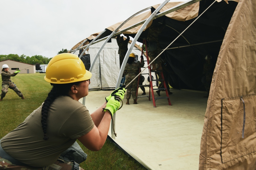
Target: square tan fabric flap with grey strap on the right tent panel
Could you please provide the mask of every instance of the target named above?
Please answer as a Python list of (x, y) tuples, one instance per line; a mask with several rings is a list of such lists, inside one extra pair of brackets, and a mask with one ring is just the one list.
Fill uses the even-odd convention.
[[(223, 163), (256, 151), (255, 112), (256, 94), (222, 99), (221, 158)], [(242, 138), (243, 132), (244, 138)]]

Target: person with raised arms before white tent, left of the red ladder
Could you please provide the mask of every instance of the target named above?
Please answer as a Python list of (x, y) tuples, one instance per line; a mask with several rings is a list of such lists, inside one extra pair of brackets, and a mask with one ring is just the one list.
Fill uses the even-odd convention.
[(118, 50), (118, 54), (119, 54), (119, 62), (120, 62), (120, 68), (122, 66), (122, 63), (124, 61), (124, 57), (125, 57), (125, 54), (128, 50), (128, 43), (130, 41), (130, 37), (128, 35), (125, 35), (127, 38), (126, 40), (124, 40), (124, 37), (120, 35), (118, 35), (116, 37), (116, 42), (117, 42), (117, 45), (119, 47), (119, 50)]

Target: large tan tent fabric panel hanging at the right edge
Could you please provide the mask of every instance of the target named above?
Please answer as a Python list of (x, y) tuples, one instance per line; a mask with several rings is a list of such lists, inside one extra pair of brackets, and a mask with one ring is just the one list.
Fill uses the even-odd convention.
[(256, 169), (255, 27), (256, 1), (241, 0), (225, 34), (212, 78), (199, 169)]

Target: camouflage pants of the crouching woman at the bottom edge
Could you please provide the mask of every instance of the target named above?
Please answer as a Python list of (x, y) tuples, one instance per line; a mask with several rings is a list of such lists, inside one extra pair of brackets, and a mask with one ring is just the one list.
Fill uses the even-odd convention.
[[(66, 162), (63, 160), (57, 160), (54, 164), (46, 167), (33, 167), (33, 166), (18, 166), (12, 164), (12, 162), (0, 157), (0, 170), (11, 169), (11, 170), (73, 170), (73, 162)], [(84, 170), (79, 167), (79, 170)]]

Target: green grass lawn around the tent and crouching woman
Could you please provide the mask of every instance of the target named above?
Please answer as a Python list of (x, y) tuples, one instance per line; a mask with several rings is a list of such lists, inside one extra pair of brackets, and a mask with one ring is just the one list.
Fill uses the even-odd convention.
[[(22, 100), (12, 89), (8, 89), (5, 98), (0, 101), (0, 138), (16, 128), (44, 102), (51, 89), (44, 76), (45, 73), (35, 73), (11, 77), (26, 99)], [(84, 169), (146, 169), (108, 139), (97, 152), (88, 150), (79, 141), (78, 143), (88, 154), (87, 160), (80, 164)]]

